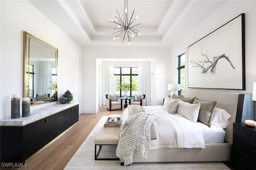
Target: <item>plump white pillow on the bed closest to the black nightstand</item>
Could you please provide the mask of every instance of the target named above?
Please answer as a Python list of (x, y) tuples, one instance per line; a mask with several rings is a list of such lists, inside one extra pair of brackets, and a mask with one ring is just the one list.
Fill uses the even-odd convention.
[(226, 128), (228, 127), (228, 119), (231, 117), (227, 111), (224, 109), (220, 109), (218, 107), (214, 108), (214, 114), (212, 117), (212, 125), (215, 125), (218, 128)]

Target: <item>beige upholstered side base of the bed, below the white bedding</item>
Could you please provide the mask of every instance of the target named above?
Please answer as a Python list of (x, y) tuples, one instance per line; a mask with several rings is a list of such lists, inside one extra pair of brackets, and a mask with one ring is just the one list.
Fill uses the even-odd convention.
[[(205, 144), (205, 148), (161, 148), (148, 152), (144, 158), (134, 151), (133, 162), (201, 162), (230, 161), (231, 143)], [(124, 160), (120, 160), (121, 165)]]

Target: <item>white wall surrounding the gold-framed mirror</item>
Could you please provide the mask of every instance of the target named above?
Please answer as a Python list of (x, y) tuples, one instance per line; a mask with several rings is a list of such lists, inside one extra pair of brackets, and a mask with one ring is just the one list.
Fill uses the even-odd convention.
[(82, 47), (26, 0), (0, 1), (0, 7), (0, 119), (10, 117), (12, 94), (22, 100), (23, 31), (58, 48), (58, 97), (70, 90), (80, 102)]

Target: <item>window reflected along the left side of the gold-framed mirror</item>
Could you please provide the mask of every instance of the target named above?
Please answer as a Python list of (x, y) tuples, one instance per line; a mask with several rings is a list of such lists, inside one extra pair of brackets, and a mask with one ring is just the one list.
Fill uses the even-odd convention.
[(26, 65), (26, 96), (34, 97), (34, 65)]

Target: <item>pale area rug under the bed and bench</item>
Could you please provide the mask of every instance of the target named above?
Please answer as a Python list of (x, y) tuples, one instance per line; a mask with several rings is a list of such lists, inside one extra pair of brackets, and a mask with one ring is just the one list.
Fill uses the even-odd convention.
[[(222, 162), (150, 162), (132, 163), (131, 166), (120, 166), (120, 160), (94, 160), (94, 139), (108, 117), (103, 116), (74, 156), (68, 162), (65, 170), (229, 170)], [(107, 146), (106, 146), (107, 147)], [(102, 155), (115, 156), (115, 147), (103, 148)]]

